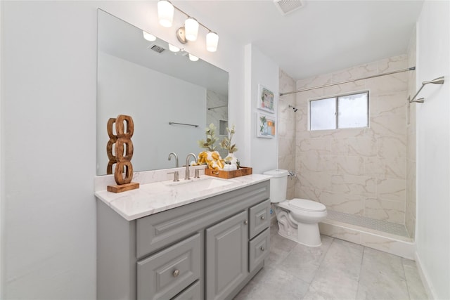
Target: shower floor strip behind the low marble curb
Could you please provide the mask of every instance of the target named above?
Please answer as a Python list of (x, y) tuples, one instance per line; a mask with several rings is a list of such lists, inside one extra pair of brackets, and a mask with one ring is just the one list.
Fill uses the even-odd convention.
[(391, 235), (399, 235), (401, 237), (409, 237), (406, 227), (401, 224), (391, 223), (383, 220), (375, 220), (366, 216), (355, 216), (353, 214), (345, 214), (340, 211), (328, 210), (328, 220), (338, 221), (342, 223), (352, 224), (364, 228), (389, 233)]

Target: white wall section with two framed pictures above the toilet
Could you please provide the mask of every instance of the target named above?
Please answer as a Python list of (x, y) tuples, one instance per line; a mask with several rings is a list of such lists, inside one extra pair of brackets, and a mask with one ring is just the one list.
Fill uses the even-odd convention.
[[(250, 165), (253, 173), (262, 174), (264, 171), (276, 169), (278, 166), (278, 132), (276, 138), (257, 138), (257, 112), (272, 115), (257, 109), (257, 85), (262, 84), (266, 89), (274, 92), (275, 113), (278, 112), (278, 65), (264, 56), (251, 44), (245, 46), (245, 108), (247, 117), (248, 141), (250, 141)], [(276, 122), (278, 131), (278, 122)], [(238, 156), (238, 155), (236, 155)]]

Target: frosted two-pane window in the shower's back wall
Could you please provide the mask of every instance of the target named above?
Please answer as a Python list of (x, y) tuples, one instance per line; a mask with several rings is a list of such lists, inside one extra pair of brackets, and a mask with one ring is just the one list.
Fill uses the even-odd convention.
[(368, 91), (309, 101), (309, 129), (368, 127)]

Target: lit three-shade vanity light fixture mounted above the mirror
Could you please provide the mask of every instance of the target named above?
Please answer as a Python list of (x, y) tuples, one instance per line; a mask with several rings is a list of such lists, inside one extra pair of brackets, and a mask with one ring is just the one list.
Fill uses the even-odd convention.
[(217, 51), (217, 44), (219, 41), (219, 35), (216, 32), (210, 30), (202, 23), (192, 18), (190, 15), (181, 11), (181, 9), (174, 6), (170, 1), (159, 0), (158, 1), (158, 18), (160, 20), (160, 25), (164, 27), (171, 27), (174, 19), (174, 9), (186, 15), (187, 19), (184, 21), (184, 26), (179, 27), (176, 30), (176, 38), (181, 44), (186, 44), (188, 41), (195, 41), (198, 36), (198, 27), (204, 27), (208, 33), (206, 34), (206, 49), (210, 52)]

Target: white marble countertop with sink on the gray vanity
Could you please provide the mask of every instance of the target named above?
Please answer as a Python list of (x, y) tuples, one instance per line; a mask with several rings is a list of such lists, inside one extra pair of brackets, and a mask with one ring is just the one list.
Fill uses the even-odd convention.
[[(214, 185), (207, 189), (198, 188), (198, 181), (211, 178), (216, 179)], [(198, 179), (191, 178), (191, 181), (187, 183), (184, 179), (180, 179), (179, 183), (158, 181), (141, 184), (139, 189), (117, 194), (110, 193), (107, 190), (98, 190), (95, 195), (98, 199), (117, 211), (124, 219), (132, 221), (167, 209), (181, 207), (215, 195), (230, 192), (231, 190), (237, 190), (248, 185), (266, 181), (269, 178), (271, 176), (262, 174), (252, 174), (231, 179), (202, 175)]]

